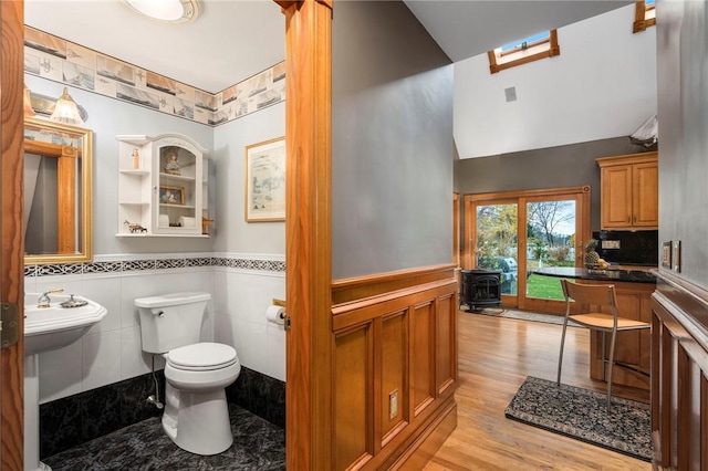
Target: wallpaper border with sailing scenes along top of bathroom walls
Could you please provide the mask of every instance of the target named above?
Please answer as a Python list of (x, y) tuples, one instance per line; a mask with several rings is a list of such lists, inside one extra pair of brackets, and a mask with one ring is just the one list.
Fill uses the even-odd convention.
[(211, 94), (27, 25), (24, 72), (210, 126), (285, 100), (284, 61)]

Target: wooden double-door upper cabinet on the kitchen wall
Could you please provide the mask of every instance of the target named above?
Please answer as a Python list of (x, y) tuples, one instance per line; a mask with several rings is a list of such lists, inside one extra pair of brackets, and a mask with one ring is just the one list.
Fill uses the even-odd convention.
[(601, 179), (602, 229), (657, 229), (657, 153), (602, 157), (596, 161)]

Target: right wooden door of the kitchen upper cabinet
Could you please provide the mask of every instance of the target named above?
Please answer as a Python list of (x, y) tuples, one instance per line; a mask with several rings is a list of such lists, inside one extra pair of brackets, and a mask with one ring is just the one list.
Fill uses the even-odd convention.
[(659, 226), (659, 169), (658, 164), (634, 165), (632, 196), (632, 226), (636, 228), (658, 228)]

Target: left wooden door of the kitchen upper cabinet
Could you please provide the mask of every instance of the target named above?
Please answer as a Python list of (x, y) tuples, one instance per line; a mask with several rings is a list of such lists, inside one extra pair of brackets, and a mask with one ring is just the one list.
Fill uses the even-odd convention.
[(632, 166), (605, 167), (601, 178), (602, 228), (622, 229), (632, 226)]

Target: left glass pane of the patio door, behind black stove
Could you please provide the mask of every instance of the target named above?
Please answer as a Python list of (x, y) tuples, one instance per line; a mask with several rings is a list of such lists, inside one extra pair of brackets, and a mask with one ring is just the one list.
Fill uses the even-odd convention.
[(501, 294), (518, 293), (519, 205), (477, 205), (476, 266), (501, 272)]

